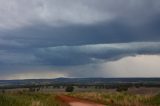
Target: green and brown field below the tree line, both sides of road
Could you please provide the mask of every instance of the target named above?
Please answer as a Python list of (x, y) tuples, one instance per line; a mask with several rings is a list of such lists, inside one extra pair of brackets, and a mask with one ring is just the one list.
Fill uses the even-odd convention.
[(6, 90), (5, 93), (0, 93), (0, 106), (62, 106), (56, 100), (56, 95), (61, 94), (95, 101), (106, 106), (160, 106), (160, 90), (155, 88), (132, 88), (126, 92), (85, 90), (75, 90), (72, 93), (62, 90), (59, 90), (59, 93), (58, 90), (54, 92)]

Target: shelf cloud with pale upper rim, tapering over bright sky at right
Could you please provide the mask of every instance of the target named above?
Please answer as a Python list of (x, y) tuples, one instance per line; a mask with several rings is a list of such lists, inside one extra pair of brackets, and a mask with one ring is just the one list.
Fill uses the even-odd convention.
[(159, 42), (58, 46), (38, 49), (35, 56), (45, 64), (70, 66), (113, 61), (139, 54), (159, 54), (159, 47)]

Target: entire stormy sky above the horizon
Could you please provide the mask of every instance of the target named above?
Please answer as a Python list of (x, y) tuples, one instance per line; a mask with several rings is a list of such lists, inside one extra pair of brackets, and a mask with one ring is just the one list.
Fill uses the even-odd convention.
[(160, 77), (159, 0), (0, 0), (0, 80)]

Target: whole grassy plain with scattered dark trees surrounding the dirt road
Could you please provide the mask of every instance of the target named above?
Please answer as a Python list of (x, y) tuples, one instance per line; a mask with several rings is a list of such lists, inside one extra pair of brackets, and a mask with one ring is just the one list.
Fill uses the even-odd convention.
[(1, 88), (0, 106), (64, 106), (58, 96), (73, 96), (106, 106), (160, 106), (160, 88), (123, 85), (39, 85)]

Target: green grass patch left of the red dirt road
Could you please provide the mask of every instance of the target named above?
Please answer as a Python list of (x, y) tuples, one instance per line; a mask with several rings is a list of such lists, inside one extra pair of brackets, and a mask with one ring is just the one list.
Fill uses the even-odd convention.
[(5, 93), (0, 94), (0, 106), (59, 106), (54, 94)]

